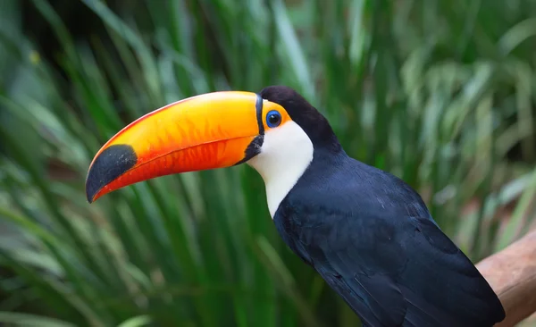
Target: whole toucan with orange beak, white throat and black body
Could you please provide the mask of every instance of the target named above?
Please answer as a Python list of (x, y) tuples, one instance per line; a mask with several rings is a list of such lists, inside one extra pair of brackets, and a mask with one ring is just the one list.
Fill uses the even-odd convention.
[(364, 326), (492, 326), (505, 311), (398, 177), (348, 156), (296, 90), (219, 91), (147, 113), (88, 168), (88, 202), (158, 176), (248, 164), (275, 229)]

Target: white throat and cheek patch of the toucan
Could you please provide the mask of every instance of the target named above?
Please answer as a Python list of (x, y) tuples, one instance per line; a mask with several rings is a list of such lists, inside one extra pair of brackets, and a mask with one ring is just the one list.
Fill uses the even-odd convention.
[(311, 139), (296, 122), (285, 122), (264, 134), (261, 153), (247, 164), (263, 177), (272, 219), (283, 198), (313, 161), (313, 152)]

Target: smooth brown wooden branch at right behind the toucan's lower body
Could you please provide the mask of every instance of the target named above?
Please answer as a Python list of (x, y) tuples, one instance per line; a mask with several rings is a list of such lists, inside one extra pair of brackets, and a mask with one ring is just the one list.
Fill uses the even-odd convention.
[(495, 290), (507, 317), (499, 327), (515, 326), (536, 312), (536, 231), (476, 267)]

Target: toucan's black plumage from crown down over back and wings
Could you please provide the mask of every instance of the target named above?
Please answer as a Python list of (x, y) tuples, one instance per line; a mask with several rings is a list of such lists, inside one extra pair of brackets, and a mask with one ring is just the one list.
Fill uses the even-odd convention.
[(264, 99), (306, 131), (314, 159), (274, 215), (282, 239), (367, 326), (492, 326), (505, 312), (472, 262), (403, 180), (350, 158), (290, 88)]

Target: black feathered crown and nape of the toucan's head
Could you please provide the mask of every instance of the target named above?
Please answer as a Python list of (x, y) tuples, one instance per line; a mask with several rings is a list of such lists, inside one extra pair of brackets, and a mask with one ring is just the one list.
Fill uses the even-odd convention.
[(285, 86), (263, 88), (259, 95), (265, 100), (281, 105), (307, 134), (315, 148), (324, 147), (339, 151), (340, 145), (330, 122), (297, 91)]

